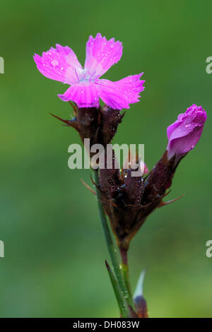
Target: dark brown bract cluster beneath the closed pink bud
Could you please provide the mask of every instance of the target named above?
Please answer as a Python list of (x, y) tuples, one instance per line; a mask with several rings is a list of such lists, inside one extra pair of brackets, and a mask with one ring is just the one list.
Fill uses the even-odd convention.
[(129, 248), (146, 217), (160, 206), (175, 169), (175, 157), (167, 160), (165, 152), (146, 177), (131, 177), (131, 169), (100, 170), (102, 203), (121, 251)]

